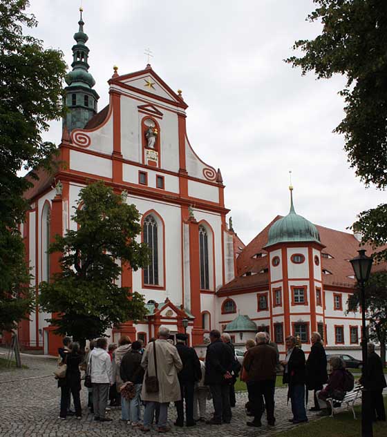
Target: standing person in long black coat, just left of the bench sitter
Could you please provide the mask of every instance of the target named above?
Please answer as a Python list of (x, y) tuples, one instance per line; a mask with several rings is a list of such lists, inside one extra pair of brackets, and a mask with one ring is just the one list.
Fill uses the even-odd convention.
[(327, 360), (325, 349), (321, 342), (321, 336), (318, 332), (312, 332), (310, 338), (312, 347), (308, 360), (306, 361), (306, 388), (313, 390), (314, 407), (309, 411), (319, 411), (320, 405), (317, 399), (317, 391), (323, 389), (323, 385), (328, 381), (328, 372), (326, 370)]

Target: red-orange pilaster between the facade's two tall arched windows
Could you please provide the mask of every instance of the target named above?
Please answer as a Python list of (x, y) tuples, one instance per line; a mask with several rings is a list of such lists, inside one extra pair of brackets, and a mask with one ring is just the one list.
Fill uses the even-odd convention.
[(203, 329), (200, 311), (200, 259), (199, 259), (199, 224), (189, 217), (189, 277), (191, 288), (191, 313), (194, 315), (191, 331), (192, 345), (202, 344)]

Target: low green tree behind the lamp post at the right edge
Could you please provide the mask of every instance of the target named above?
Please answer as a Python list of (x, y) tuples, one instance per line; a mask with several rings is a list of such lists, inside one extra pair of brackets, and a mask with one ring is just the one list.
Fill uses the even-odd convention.
[[(357, 311), (361, 303), (360, 289), (350, 295), (348, 299), (348, 312)], [(369, 318), (370, 340), (380, 343), (380, 356), (386, 363), (387, 344), (387, 272), (372, 273), (366, 284), (366, 307), (371, 315)]]

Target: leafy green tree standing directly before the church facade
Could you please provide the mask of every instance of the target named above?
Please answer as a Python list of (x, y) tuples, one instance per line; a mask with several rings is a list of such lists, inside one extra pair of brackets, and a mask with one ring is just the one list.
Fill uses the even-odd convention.
[(135, 237), (141, 232), (140, 213), (103, 182), (82, 188), (72, 220), (77, 231), (68, 231), (50, 246), (60, 252), (61, 272), (40, 284), (40, 304), (55, 313), (55, 332), (70, 335), (84, 345), (103, 336), (106, 329), (127, 320), (142, 320), (144, 300), (137, 292), (120, 287), (122, 267), (147, 266), (149, 248)]

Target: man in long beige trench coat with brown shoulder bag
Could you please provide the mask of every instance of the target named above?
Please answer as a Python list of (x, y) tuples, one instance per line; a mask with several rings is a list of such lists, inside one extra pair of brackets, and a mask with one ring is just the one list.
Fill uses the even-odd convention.
[[(145, 402), (144, 425), (142, 431), (151, 429), (151, 422), (155, 408), (160, 405), (158, 417), (158, 432), (167, 432), (167, 416), (169, 402), (181, 399), (178, 372), (182, 369), (182, 361), (178, 350), (170, 344), (169, 329), (161, 326), (158, 331), (158, 340), (149, 342), (144, 351), (141, 365), (145, 369), (144, 384), (141, 398)], [(158, 381), (157, 391), (147, 387), (147, 378), (155, 376)]]

